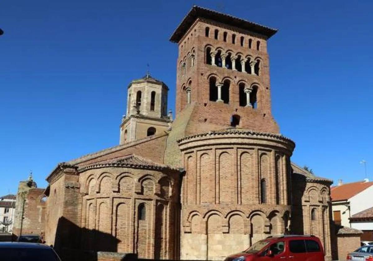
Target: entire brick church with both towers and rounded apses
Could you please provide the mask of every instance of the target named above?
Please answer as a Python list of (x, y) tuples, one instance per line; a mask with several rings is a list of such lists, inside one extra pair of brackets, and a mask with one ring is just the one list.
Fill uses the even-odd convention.
[(164, 82), (147, 73), (129, 83), (120, 144), (48, 175), (46, 243), (223, 260), (268, 236), (312, 234), (331, 260), (332, 181), (291, 162), (295, 142), (271, 111), (276, 31), (193, 6), (170, 37), (175, 119)]

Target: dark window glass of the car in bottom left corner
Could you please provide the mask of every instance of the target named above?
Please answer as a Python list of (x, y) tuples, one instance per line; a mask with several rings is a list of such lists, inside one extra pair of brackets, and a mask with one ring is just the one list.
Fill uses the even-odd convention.
[(0, 248), (1, 260), (12, 261), (60, 261), (52, 249)]

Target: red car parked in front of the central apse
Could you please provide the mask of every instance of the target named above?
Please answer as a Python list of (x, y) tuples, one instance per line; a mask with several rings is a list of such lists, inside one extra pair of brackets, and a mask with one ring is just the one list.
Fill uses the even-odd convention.
[[(274, 236), (254, 243), (225, 261), (324, 261), (324, 249), (316, 236)], [(373, 261), (373, 260), (372, 260)]]

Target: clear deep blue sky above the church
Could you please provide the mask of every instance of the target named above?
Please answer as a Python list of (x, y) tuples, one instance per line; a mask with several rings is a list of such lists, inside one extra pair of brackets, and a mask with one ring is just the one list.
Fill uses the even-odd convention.
[(373, 179), (372, 1), (19, 0), (0, 3), (0, 195), (29, 170), (44, 187), (57, 163), (117, 145), (126, 86), (147, 63), (173, 109), (168, 39), (193, 4), (279, 29), (272, 111), (295, 163), (351, 182), (365, 159)]

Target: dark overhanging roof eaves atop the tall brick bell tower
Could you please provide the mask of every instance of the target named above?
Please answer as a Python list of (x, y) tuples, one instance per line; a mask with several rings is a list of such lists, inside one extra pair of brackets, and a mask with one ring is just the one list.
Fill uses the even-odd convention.
[(241, 29), (252, 31), (270, 38), (277, 32), (277, 29), (269, 28), (264, 25), (259, 25), (241, 18), (236, 18), (231, 15), (219, 13), (210, 9), (200, 6), (193, 6), (189, 13), (184, 17), (183, 21), (179, 24), (176, 30), (170, 37), (172, 43), (178, 43), (185, 35), (188, 29), (198, 18), (210, 19), (216, 22), (225, 23), (226, 25), (235, 26)]

